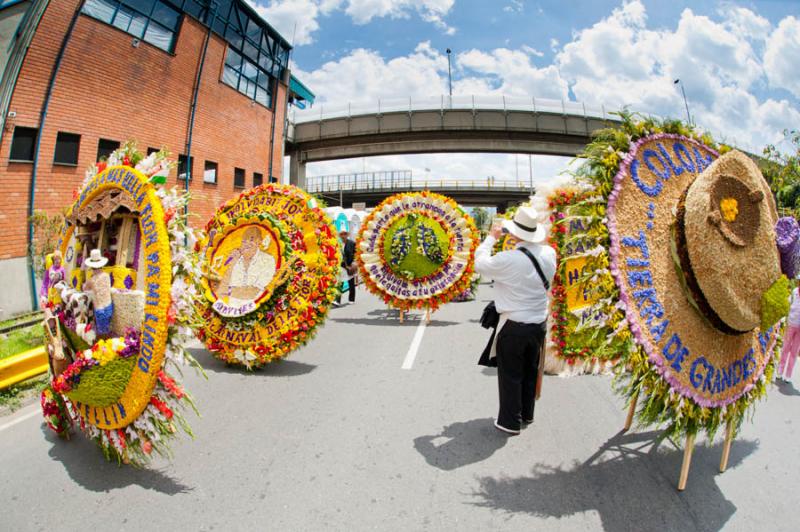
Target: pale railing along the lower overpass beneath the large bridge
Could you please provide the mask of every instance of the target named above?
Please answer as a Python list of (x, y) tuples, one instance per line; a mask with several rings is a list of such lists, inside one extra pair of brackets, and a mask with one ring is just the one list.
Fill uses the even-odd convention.
[(495, 177), (454, 179), (415, 177), (410, 170), (361, 172), (306, 178), (306, 190), (312, 194), (332, 192), (368, 192), (371, 190), (530, 190), (529, 182), (509, 181)]

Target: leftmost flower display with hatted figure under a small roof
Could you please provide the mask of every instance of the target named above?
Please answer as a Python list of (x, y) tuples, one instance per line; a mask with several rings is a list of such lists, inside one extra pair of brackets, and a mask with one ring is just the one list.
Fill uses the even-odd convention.
[(202, 371), (184, 348), (199, 295), (188, 195), (157, 186), (172, 166), (132, 142), (92, 166), (42, 289), (47, 425), (66, 437), (77, 424), (107, 458), (135, 465), (169, 456), (179, 428), (191, 435), (182, 411), (194, 404), (171, 372)]

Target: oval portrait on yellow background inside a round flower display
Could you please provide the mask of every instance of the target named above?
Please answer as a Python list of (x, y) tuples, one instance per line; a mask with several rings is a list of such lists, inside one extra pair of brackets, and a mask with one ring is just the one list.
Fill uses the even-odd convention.
[[(212, 263), (217, 312), (244, 315), (256, 308), (280, 267), (274, 235), (265, 227), (246, 225), (226, 235)], [(216, 286), (215, 286), (216, 285)]]

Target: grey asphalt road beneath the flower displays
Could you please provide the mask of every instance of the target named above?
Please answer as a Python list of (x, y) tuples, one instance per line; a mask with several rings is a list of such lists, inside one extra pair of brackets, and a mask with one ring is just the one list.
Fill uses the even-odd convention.
[(700, 442), (678, 493), (682, 450), (652, 428), (621, 434), (608, 377), (548, 377), (531, 427), (494, 429), (496, 378), (475, 365), (490, 298), (482, 286), (421, 330), (419, 313), (401, 325), (359, 290), (310, 345), (252, 374), (197, 349), (196, 439), (148, 469), (107, 463), (80, 434), (52, 437), (26, 418), (38, 405), (0, 418), (0, 530), (800, 527), (795, 387), (758, 405), (726, 473), (721, 441)]

